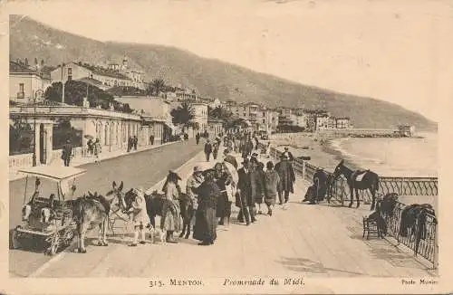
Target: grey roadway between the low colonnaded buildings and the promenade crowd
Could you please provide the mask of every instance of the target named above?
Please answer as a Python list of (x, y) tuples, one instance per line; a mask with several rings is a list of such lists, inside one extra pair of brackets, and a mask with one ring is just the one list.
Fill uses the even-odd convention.
[[(177, 142), (168, 146), (129, 153), (123, 157), (104, 158), (99, 163), (85, 164), (81, 167), (87, 173), (76, 179), (76, 195), (81, 195), (89, 189), (105, 194), (111, 189), (111, 182), (124, 181), (125, 187), (153, 186), (167, 175), (169, 169), (176, 169), (195, 157), (203, 146), (195, 144), (195, 139)], [(107, 154), (107, 153), (106, 153)], [(104, 156), (106, 157), (106, 156)], [(76, 162), (72, 163), (76, 165)], [(24, 201), (25, 179), (9, 182), (9, 225), (14, 228), (21, 224), (21, 212)], [(42, 193), (50, 194), (55, 189), (54, 184), (42, 179)], [(32, 194), (34, 182), (27, 186), (27, 197)], [(15, 276), (28, 276), (49, 260), (43, 252), (10, 251), (10, 271)]]

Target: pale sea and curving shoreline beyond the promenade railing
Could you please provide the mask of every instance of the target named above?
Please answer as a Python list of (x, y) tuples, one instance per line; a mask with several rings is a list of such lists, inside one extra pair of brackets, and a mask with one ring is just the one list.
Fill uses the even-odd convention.
[[(292, 136), (294, 157), (310, 156), (313, 165), (333, 171), (339, 159), (347, 166), (370, 169), (380, 176), (437, 177), (438, 134), (418, 133), (421, 138), (336, 138), (324, 144), (306, 136)], [(279, 149), (283, 147), (279, 147)], [(400, 196), (404, 204), (429, 203), (437, 208), (437, 197)]]

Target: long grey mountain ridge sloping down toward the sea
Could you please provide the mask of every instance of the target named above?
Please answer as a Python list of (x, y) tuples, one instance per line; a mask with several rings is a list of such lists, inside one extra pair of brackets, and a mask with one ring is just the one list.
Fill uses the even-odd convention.
[[(175, 46), (101, 42), (67, 33), (25, 16), (10, 16), (10, 58), (46, 64), (82, 61), (107, 65), (124, 54), (131, 68), (145, 72), (148, 81), (163, 78), (173, 86), (197, 90), (220, 100), (254, 101), (270, 107), (325, 107), (333, 116), (350, 117), (357, 128), (395, 128), (413, 124), (420, 130), (437, 130), (437, 123), (398, 104), (309, 86), (275, 75), (253, 71), (231, 62), (198, 56)], [(14, 20), (16, 21), (14, 24)], [(379, 110), (379, 111), (376, 111)]]

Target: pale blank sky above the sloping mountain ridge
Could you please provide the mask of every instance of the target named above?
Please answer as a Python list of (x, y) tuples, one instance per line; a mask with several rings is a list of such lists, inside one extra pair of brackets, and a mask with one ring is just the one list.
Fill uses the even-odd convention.
[(15, 2), (100, 41), (176, 46), (330, 90), (397, 103), (438, 121), (451, 98), (453, 5), (400, 0)]

